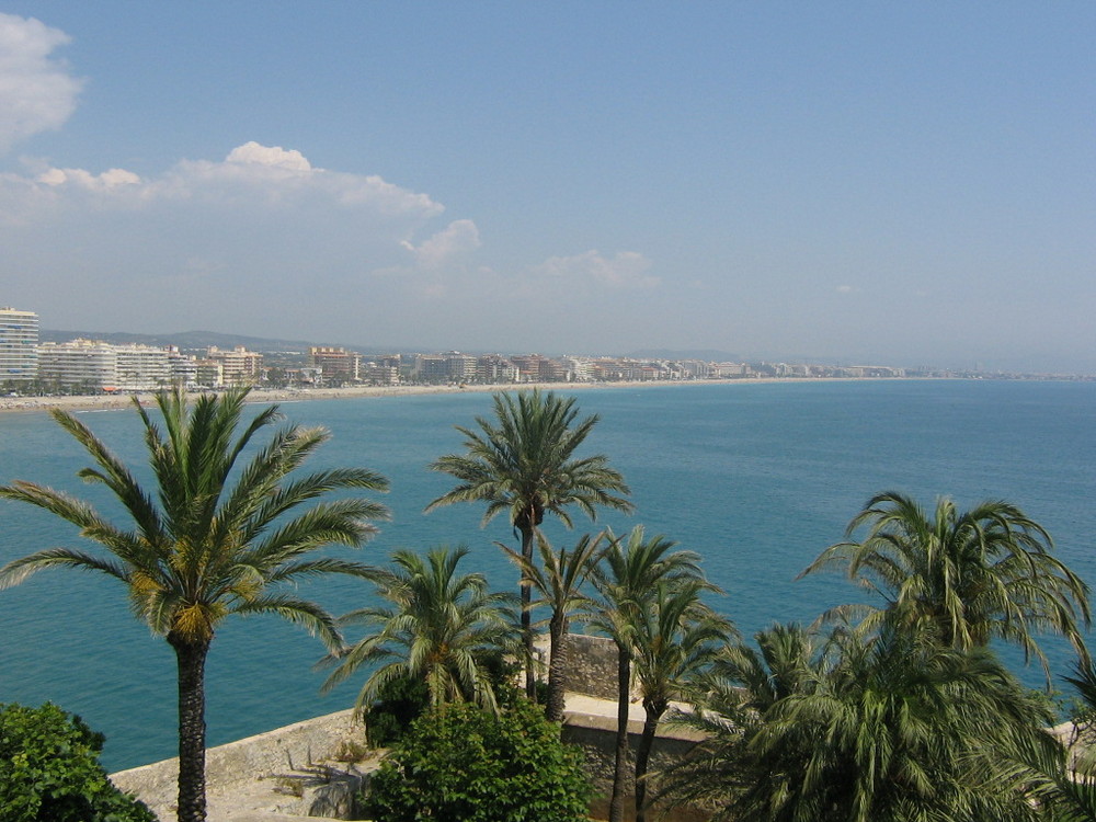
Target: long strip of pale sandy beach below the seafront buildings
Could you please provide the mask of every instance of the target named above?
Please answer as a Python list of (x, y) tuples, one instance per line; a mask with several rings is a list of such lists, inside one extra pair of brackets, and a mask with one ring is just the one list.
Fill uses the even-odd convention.
[[(826, 383), (855, 383), (863, 378), (827, 377)], [(874, 378), (878, 379), (878, 378)], [(888, 377), (888, 379), (907, 379)], [(695, 380), (621, 380), (615, 383), (502, 383), (471, 386), (354, 386), (351, 388), (304, 388), (304, 389), (254, 389), (249, 402), (276, 403), (307, 400), (358, 399), (362, 397), (407, 397), (426, 393), (494, 393), (496, 391), (529, 390), (540, 388), (546, 391), (607, 390), (614, 388), (648, 388), (657, 386), (707, 386), (707, 385), (757, 385), (761, 383), (821, 383), (819, 377), (742, 377), (741, 379), (695, 379)], [(75, 397), (0, 397), (0, 414), (35, 413), (62, 409), (65, 411), (117, 411), (130, 408), (136, 396), (141, 404), (152, 401), (155, 393), (141, 392), (124, 397), (75, 396)]]

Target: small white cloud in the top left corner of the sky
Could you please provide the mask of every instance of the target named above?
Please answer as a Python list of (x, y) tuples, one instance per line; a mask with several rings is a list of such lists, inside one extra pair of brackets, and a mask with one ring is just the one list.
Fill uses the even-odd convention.
[(0, 13), (0, 151), (59, 128), (72, 114), (83, 81), (50, 57), (69, 39), (33, 18)]

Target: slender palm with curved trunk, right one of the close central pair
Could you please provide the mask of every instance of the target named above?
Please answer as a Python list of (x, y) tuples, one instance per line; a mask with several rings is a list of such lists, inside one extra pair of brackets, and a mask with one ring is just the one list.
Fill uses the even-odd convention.
[(660, 581), (650, 606), (636, 614), (636, 680), (646, 719), (636, 750), (636, 822), (647, 819), (647, 772), (659, 722), (730, 639), (733, 628), (700, 601), (696, 580)]

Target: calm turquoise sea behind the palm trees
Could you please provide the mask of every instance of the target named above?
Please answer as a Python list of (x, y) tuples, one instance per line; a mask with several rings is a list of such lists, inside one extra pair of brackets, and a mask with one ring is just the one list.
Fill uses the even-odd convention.
[[(949, 494), (963, 505), (1006, 499), (1053, 535), (1060, 556), (1096, 583), (1096, 383), (864, 381), (620, 387), (576, 391), (602, 421), (590, 452), (606, 454), (632, 488), (637, 513), (598, 525), (623, 532), (642, 523), (699, 551), (727, 595), (715, 604), (744, 635), (777, 620), (812, 620), (860, 601), (837, 575), (794, 578), (874, 493), (900, 490), (932, 505)], [(395, 548), (442, 543), (471, 549), (467, 570), (499, 586), (515, 582), (494, 540), (513, 544), (505, 522), (480, 527), (481, 509), (430, 515), (422, 509), (449, 487), (426, 470), (460, 449), (454, 424), (490, 412), (487, 393), (381, 397), (287, 403), (295, 422), (322, 424), (333, 438), (315, 465), (363, 465), (385, 473), (392, 520), (358, 557), (383, 562)], [(139, 465), (132, 411), (83, 415)], [(76, 471), (78, 446), (47, 414), (0, 415), (0, 481), (33, 479), (110, 502)], [(552, 539), (576, 533), (552, 528)], [(73, 529), (27, 506), (0, 502), (0, 563), (52, 545)], [(334, 613), (363, 604), (365, 583), (331, 579), (305, 590)], [(1049, 643), (1057, 674), (1069, 649)], [(228, 623), (207, 669), (208, 741), (220, 744), (349, 707), (357, 683), (320, 696), (311, 669), (322, 648), (273, 618)], [(1023, 660), (1008, 657), (1017, 670)], [(1032, 685), (1036, 669), (1023, 671)], [(71, 571), (38, 574), (0, 592), (0, 701), (46, 699), (107, 735), (110, 769), (174, 754), (174, 661), (128, 613), (111, 580)]]

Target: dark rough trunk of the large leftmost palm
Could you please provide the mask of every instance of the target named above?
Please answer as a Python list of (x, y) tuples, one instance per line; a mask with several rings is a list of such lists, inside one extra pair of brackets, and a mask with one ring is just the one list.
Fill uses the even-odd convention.
[(205, 660), (209, 640), (168, 635), (179, 669), (179, 822), (205, 822)]

